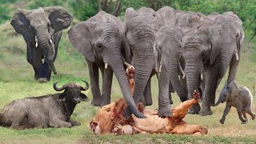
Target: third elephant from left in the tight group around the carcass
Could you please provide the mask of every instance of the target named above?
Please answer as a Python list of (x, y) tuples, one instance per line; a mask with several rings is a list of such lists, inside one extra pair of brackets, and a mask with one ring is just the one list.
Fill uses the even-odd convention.
[(159, 78), (158, 78), (158, 115), (160, 117), (171, 116), (169, 86), (174, 87), (180, 100), (186, 101), (186, 85), (182, 85), (180, 80), (183, 70), (179, 65), (179, 59), (182, 55), (181, 47), (182, 30), (177, 26), (162, 26), (156, 34), (156, 51), (158, 52)]

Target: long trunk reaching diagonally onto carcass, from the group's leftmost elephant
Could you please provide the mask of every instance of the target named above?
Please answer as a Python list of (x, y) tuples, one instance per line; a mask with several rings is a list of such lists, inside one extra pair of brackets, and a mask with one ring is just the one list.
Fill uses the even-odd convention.
[(126, 112), (128, 112), (128, 115), (134, 114), (137, 118), (146, 118), (143, 114), (141, 114), (138, 111), (137, 106), (135, 105), (135, 102), (134, 102), (134, 98), (130, 94), (130, 88), (129, 88), (124, 66), (122, 64), (122, 61), (117, 61), (117, 59), (122, 59), (121, 55), (115, 56), (115, 57), (113, 56), (111, 59), (112, 61), (110, 61), (109, 65), (114, 70), (114, 74), (118, 79), (118, 83), (121, 87), (123, 97), (126, 100), (126, 104), (127, 104)]

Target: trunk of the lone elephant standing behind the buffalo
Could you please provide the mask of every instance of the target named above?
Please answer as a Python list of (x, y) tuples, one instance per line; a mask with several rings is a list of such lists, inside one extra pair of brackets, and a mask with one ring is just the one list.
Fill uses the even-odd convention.
[(50, 34), (46, 30), (38, 29), (38, 46), (42, 49), (45, 55), (45, 61), (49, 64), (50, 70), (57, 74), (55, 67), (54, 67), (54, 43), (50, 37)]

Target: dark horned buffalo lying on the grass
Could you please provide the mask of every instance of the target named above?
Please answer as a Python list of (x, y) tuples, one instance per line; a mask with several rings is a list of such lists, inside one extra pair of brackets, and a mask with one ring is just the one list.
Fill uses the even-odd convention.
[(79, 126), (79, 122), (70, 120), (70, 115), (79, 102), (88, 99), (81, 93), (81, 90), (88, 90), (88, 82), (86, 87), (75, 82), (67, 83), (60, 88), (56, 86), (57, 83), (54, 82), (54, 90), (64, 90), (63, 93), (22, 98), (10, 102), (0, 113), (0, 125), (17, 130)]

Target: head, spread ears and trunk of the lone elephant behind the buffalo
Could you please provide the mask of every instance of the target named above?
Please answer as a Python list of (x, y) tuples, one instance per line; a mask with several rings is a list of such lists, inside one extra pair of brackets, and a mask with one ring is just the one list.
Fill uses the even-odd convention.
[(42, 51), (45, 61), (56, 74), (54, 68), (53, 34), (66, 29), (73, 21), (69, 11), (60, 6), (39, 8), (38, 10), (17, 10), (10, 22), (18, 34), (22, 34), (26, 42), (33, 43)]

